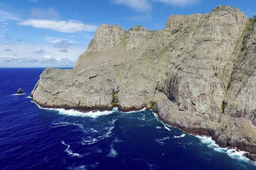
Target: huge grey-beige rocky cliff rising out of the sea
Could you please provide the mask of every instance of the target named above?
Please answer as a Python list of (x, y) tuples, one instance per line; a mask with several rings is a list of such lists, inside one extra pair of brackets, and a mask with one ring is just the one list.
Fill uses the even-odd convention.
[(160, 31), (103, 24), (74, 69), (45, 69), (31, 96), (42, 107), (153, 108), (164, 122), (255, 154), (254, 27), (230, 6), (172, 15)]

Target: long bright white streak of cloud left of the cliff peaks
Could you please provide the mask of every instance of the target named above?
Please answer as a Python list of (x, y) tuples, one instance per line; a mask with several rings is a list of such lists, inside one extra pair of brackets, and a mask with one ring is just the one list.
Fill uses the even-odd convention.
[(55, 21), (48, 19), (28, 19), (19, 22), (18, 25), (33, 26), (36, 28), (50, 29), (63, 33), (76, 33), (81, 31), (93, 32), (97, 30), (97, 26), (84, 24), (81, 21)]

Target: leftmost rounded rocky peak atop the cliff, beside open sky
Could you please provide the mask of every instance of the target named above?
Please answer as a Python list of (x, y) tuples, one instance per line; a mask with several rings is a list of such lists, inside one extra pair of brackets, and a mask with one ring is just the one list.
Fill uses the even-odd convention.
[(119, 44), (126, 31), (121, 26), (102, 24), (94, 34), (94, 38), (88, 45), (87, 51), (106, 51)]

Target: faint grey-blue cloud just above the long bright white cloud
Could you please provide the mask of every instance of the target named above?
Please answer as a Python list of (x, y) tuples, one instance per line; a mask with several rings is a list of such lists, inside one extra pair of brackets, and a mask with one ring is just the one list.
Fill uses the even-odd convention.
[(54, 8), (32, 8), (30, 10), (30, 17), (31, 18), (43, 18), (43, 19), (59, 19), (60, 14)]

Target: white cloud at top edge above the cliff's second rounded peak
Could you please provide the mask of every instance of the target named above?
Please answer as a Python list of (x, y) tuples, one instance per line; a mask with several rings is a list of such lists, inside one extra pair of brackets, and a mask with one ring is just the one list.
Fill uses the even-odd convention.
[(148, 0), (113, 0), (113, 3), (128, 6), (135, 11), (148, 12), (152, 9), (152, 4)]

